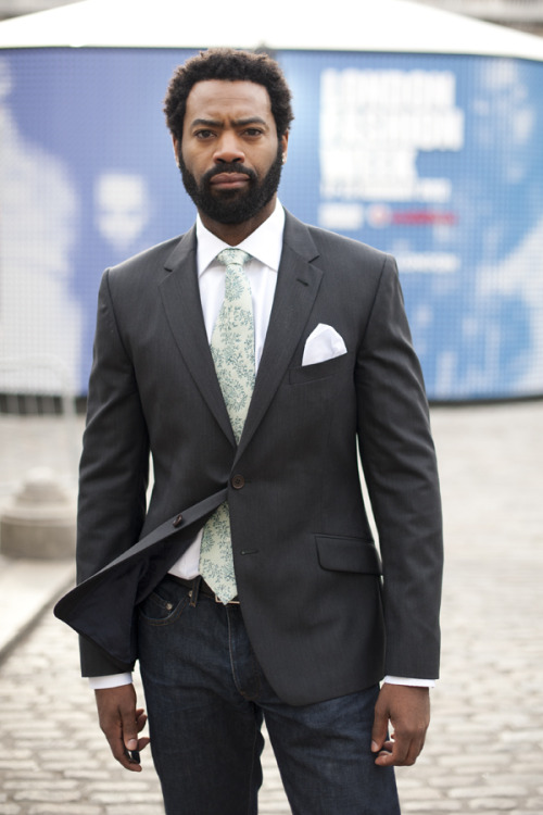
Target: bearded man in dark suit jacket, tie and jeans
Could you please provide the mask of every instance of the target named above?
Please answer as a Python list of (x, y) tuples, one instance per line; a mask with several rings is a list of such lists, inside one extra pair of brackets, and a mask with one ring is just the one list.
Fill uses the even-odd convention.
[(442, 560), (395, 264), (279, 205), (292, 112), (269, 58), (201, 53), (165, 111), (197, 224), (104, 275), (80, 584), (56, 613), (131, 770), (139, 659), (168, 815), (256, 813), (263, 718), (293, 813), (394, 815), (393, 766), (429, 723)]

